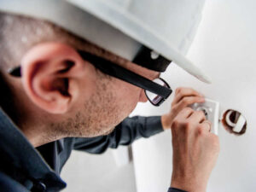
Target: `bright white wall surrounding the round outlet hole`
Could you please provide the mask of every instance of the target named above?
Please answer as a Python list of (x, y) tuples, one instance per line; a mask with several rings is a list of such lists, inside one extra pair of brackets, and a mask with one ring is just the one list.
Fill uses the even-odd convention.
[[(188, 57), (212, 76), (203, 84), (172, 64), (164, 78), (175, 89), (189, 86), (220, 102), (220, 111), (234, 108), (247, 118), (247, 132), (236, 137), (218, 126), (221, 151), (207, 191), (241, 192), (256, 189), (256, 1), (207, 0), (203, 18)], [(171, 98), (172, 100), (172, 98)], [(134, 114), (166, 113), (138, 105)], [(221, 117), (221, 116), (220, 116)], [(167, 131), (133, 145), (138, 192), (166, 191), (171, 181), (171, 133)]]

